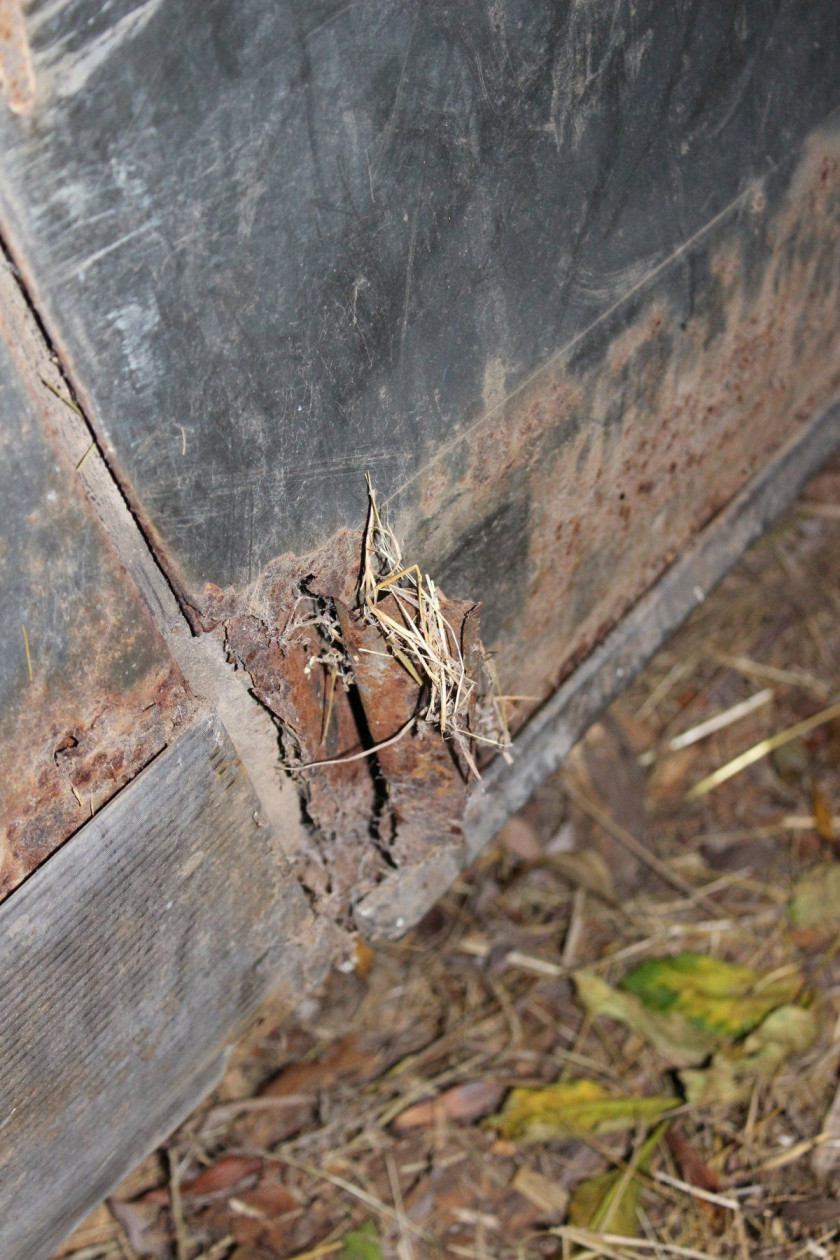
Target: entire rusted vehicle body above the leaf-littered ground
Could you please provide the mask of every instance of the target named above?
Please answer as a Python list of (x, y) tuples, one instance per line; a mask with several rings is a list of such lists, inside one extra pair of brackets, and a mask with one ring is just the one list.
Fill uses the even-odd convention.
[[(33, 1260), (268, 993), (423, 915), (840, 449), (840, 14), (3, 0), (0, 79)], [(480, 780), (358, 611), (365, 474), (516, 697)]]

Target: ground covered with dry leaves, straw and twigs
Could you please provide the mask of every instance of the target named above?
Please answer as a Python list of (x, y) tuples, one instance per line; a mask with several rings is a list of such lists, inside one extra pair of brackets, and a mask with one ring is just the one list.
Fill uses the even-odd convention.
[(840, 1256), (839, 699), (835, 464), (57, 1256)]

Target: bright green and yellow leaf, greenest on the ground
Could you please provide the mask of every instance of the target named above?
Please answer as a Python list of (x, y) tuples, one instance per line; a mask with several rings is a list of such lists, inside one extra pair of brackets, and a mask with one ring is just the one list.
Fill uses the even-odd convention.
[(751, 966), (735, 966), (685, 950), (650, 959), (621, 982), (655, 1012), (678, 1012), (694, 1028), (734, 1041), (758, 1027), (776, 1007), (792, 1002), (802, 976), (792, 969), (766, 980)]

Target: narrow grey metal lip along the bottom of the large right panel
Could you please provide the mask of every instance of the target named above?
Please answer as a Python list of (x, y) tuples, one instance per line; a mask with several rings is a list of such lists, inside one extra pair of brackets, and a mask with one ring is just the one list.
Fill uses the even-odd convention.
[(366, 934), (395, 939), (416, 924), (502, 824), (557, 770), (587, 727), (625, 690), (665, 640), (840, 451), (840, 402), (821, 411), (698, 536), (514, 740), (510, 766), (496, 759), (474, 790), (465, 840), (380, 885), (356, 907)]

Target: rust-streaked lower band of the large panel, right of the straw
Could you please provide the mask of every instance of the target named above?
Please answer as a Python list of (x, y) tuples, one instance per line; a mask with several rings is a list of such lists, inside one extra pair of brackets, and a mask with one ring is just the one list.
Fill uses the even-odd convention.
[(535, 698), (514, 726), (839, 388), (826, 130), (402, 499), (407, 549), (486, 601), (502, 692)]

